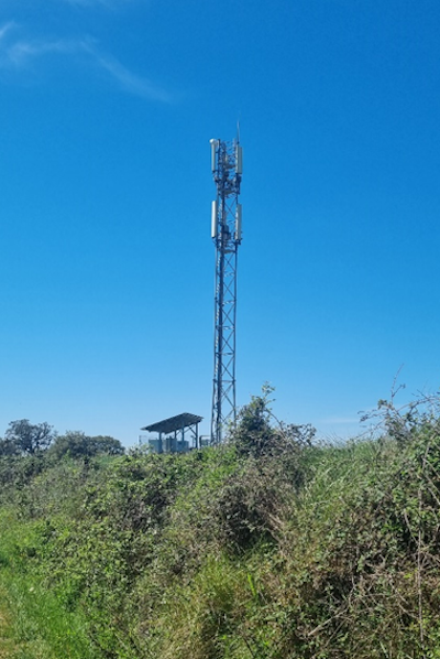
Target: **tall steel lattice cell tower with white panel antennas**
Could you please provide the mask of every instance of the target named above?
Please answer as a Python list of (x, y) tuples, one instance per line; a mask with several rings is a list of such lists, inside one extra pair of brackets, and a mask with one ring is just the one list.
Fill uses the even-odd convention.
[(216, 245), (216, 321), (211, 443), (219, 444), (229, 423), (235, 423), (237, 256), (241, 242), (239, 204), (243, 170), (240, 138), (211, 140), (211, 169), (217, 186), (212, 202), (211, 237)]

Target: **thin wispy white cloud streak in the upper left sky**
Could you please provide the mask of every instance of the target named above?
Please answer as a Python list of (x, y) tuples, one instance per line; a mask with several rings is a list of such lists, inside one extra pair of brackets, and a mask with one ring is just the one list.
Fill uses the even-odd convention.
[[(96, 69), (101, 69), (110, 79), (117, 83), (122, 90), (150, 100), (161, 102), (172, 101), (172, 96), (168, 91), (154, 85), (146, 77), (131, 72), (119, 60), (101, 51), (97, 43), (91, 39), (13, 41), (8, 39), (8, 33), (10, 33), (13, 28), (13, 23), (7, 23), (0, 26), (0, 68), (15, 71), (25, 69), (37, 58), (47, 55), (67, 55), (76, 57), (77, 60), (82, 55), (82, 65), (88, 64)], [(86, 60), (84, 55), (86, 55)]]

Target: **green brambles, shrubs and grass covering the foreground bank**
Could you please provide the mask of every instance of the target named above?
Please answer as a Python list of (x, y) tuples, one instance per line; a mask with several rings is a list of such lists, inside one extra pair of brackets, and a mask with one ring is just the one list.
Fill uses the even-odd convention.
[(185, 455), (7, 435), (0, 657), (439, 659), (436, 406), (330, 446), (267, 395)]

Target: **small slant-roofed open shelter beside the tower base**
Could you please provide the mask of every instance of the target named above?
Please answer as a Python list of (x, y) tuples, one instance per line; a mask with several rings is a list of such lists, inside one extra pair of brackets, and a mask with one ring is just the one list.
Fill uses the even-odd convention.
[(193, 447), (199, 449), (199, 423), (201, 420), (202, 417), (184, 412), (145, 425), (141, 430), (158, 433), (157, 440), (148, 442), (156, 453), (185, 453)]

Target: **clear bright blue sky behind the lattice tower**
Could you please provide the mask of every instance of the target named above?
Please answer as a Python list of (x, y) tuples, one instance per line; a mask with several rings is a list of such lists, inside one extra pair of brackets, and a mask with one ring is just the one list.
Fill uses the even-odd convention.
[(0, 433), (211, 404), (210, 138), (241, 122), (238, 401), (321, 435), (440, 385), (438, 0), (3, 0)]

